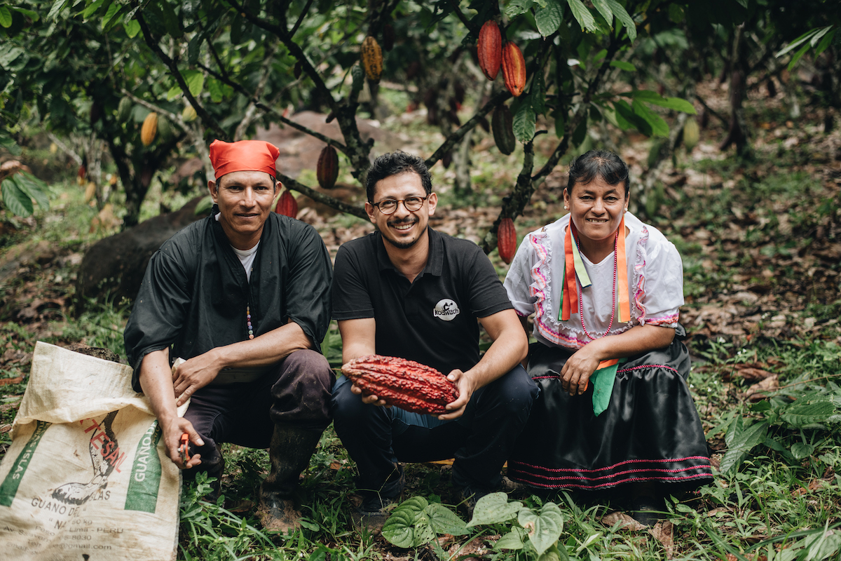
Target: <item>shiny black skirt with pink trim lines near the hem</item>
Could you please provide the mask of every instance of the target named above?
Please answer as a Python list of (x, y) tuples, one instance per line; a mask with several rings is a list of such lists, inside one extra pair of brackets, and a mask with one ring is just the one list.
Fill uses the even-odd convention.
[(610, 405), (598, 416), (593, 384), (575, 396), (561, 387), (559, 372), (571, 355), (563, 347), (532, 345), (528, 371), (540, 395), (508, 461), (510, 479), (547, 490), (653, 482), (675, 492), (712, 481), (686, 384), (689, 352), (678, 337), (666, 349), (621, 364)]

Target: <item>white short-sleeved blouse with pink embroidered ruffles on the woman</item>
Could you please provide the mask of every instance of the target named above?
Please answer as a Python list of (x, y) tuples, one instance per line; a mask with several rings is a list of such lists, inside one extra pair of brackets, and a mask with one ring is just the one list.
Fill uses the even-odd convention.
[[(564, 240), (569, 214), (528, 234), (505, 277), (505, 290), (517, 314), (535, 315), (534, 336), (548, 346), (581, 348), (591, 341), (579, 310), (559, 319), (563, 283)], [(631, 321), (620, 322), (614, 305), (614, 254), (598, 263), (581, 255), (592, 285), (580, 288), (584, 325), (591, 336), (616, 335), (634, 325), (675, 327), (683, 298), (683, 264), (674, 244), (651, 225), (625, 214), (628, 297)], [(618, 289), (616, 290), (618, 299)]]

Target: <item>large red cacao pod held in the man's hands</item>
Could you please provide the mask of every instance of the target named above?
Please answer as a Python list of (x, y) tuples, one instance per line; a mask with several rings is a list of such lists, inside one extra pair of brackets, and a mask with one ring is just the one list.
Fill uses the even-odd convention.
[(341, 373), (366, 394), (415, 413), (441, 415), (458, 399), (456, 385), (435, 368), (399, 357), (366, 355), (341, 367)]

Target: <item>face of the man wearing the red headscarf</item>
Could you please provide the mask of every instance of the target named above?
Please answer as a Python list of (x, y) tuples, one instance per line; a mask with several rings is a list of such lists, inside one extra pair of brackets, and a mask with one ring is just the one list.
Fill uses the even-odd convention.
[(230, 172), (208, 182), (210, 196), (219, 205), (220, 225), (237, 249), (257, 245), (272, 211), (275, 184), (266, 172)]

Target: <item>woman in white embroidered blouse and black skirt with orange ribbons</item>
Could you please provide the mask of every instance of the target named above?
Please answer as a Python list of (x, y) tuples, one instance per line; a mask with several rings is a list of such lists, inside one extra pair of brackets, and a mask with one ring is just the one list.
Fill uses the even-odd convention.
[[(560, 220), (527, 235), (505, 278), (541, 388), (508, 463), (539, 489), (618, 490), (651, 523), (662, 497), (711, 481), (678, 323), (680, 255), (627, 211), (627, 165), (608, 151), (570, 164)], [(527, 331), (527, 327), (526, 327)]]

